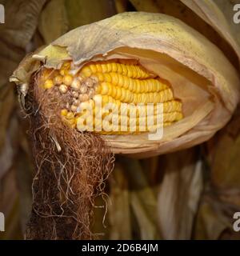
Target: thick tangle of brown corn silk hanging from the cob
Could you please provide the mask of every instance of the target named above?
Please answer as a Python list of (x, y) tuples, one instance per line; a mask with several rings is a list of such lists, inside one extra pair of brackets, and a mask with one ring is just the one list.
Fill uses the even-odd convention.
[(43, 90), (38, 74), (32, 76), (26, 109), (36, 173), (26, 239), (96, 238), (90, 230), (94, 198), (103, 194), (114, 156), (97, 134), (61, 121), (62, 101), (56, 88)]

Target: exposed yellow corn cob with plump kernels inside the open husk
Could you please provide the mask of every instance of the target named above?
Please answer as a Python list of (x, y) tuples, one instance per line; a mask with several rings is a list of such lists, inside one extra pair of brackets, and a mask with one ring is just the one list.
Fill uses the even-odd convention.
[[(170, 84), (137, 62), (90, 62), (77, 74), (72, 66), (72, 62), (65, 62), (60, 70), (44, 68), (40, 76), (45, 90), (58, 86), (62, 95), (70, 96), (61, 116), (72, 128), (100, 134), (135, 134), (170, 126), (183, 118), (182, 102), (174, 98)], [(109, 109), (110, 103), (113, 106)], [(158, 103), (162, 103), (161, 113)]]

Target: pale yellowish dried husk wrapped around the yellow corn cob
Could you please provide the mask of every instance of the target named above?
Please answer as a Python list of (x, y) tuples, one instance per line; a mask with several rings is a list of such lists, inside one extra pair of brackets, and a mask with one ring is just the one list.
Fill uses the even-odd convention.
[(238, 74), (222, 52), (165, 14), (123, 13), (71, 30), (22, 62), (11, 81), (27, 89), (41, 61), (59, 68), (70, 58), (79, 68), (89, 60), (138, 58), (169, 80), (183, 102), (185, 118), (166, 127), (161, 140), (149, 140), (148, 134), (102, 136), (114, 153), (150, 157), (204, 142), (226, 125), (238, 103)]

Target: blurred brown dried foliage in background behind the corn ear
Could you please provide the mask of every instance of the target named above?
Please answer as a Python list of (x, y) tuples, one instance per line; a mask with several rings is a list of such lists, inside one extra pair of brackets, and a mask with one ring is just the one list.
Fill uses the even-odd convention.
[[(196, 14), (194, 0), (0, 0), (0, 211), (6, 232), (24, 237), (31, 207), (33, 166), (28, 122), (8, 82), (24, 56), (75, 27), (125, 11), (180, 18), (216, 44), (239, 70), (240, 25), (231, 20), (238, 1), (215, 3), (232, 33)], [(203, 3), (203, 2), (202, 2)], [(218, 13), (219, 14), (219, 13)], [(234, 44), (232, 43), (234, 42)], [(106, 203), (106, 208), (104, 208)], [(233, 214), (240, 211), (240, 110), (214, 138), (200, 146), (154, 158), (116, 157), (106, 194), (98, 198), (93, 230), (110, 239), (239, 239)]]

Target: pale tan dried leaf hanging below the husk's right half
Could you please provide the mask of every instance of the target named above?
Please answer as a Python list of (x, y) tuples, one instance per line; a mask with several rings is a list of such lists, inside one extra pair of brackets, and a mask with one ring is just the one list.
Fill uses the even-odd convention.
[(164, 239), (190, 239), (202, 193), (198, 150), (167, 154), (162, 161), (166, 171), (158, 193), (159, 228)]

